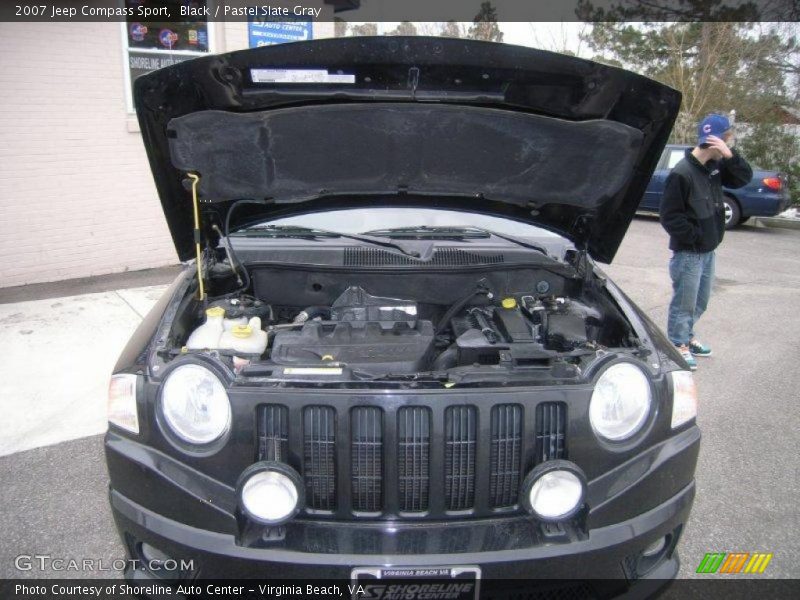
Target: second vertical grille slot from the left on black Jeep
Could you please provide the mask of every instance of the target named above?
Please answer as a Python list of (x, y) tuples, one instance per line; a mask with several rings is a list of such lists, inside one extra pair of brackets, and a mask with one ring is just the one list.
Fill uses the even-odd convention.
[(303, 477), (306, 503), (315, 510), (336, 508), (336, 415), (330, 406), (303, 411)]

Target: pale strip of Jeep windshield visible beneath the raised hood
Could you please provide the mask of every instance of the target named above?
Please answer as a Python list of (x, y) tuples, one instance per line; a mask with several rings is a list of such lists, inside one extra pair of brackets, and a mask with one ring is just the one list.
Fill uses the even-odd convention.
[(561, 239), (561, 236), (530, 225), (500, 217), (430, 208), (357, 208), (296, 215), (263, 221), (250, 229), (293, 225), (340, 233), (369, 233), (379, 229), (406, 227), (478, 227), (499, 234), (529, 239)]

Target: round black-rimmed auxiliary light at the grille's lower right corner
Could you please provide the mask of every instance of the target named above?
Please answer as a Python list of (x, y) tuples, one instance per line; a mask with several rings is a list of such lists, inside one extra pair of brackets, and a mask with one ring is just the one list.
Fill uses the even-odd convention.
[(538, 465), (525, 478), (522, 503), (542, 521), (563, 521), (583, 505), (586, 478), (577, 465), (552, 460)]

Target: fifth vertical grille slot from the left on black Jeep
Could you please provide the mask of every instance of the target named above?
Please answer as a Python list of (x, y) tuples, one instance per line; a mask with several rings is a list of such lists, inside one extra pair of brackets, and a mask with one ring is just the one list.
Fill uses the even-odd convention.
[(475, 502), (475, 424), (472, 406), (451, 406), (444, 413), (447, 510), (466, 510)]

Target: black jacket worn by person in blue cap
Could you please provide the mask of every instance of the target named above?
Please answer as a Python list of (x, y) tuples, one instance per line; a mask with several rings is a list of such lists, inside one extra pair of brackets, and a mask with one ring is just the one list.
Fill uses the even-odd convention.
[(670, 250), (711, 252), (725, 235), (722, 186), (740, 188), (753, 170), (736, 150), (719, 162), (701, 164), (692, 149), (667, 177), (661, 199), (661, 225), (669, 233)]

